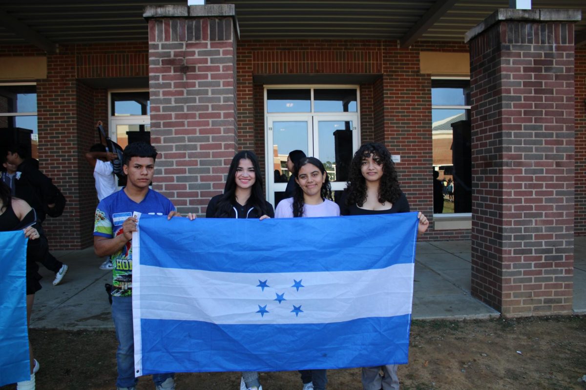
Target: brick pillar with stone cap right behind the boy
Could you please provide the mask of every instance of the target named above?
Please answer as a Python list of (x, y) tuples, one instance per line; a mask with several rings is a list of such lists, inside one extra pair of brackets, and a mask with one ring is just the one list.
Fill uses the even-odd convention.
[(148, 6), (154, 188), (205, 213), (237, 150), (234, 5)]

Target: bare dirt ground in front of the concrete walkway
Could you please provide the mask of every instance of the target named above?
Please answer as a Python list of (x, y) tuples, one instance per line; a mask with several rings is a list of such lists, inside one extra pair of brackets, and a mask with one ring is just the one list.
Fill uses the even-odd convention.
[[(37, 389), (115, 388), (114, 332), (32, 330)], [(403, 390), (585, 389), (586, 316), (414, 321)], [(297, 372), (263, 372), (265, 390), (301, 390)], [(360, 370), (329, 370), (328, 389), (361, 390)], [(238, 390), (237, 372), (176, 375), (178, 390)], [(15, 385), (0, 390), (14, 389)], [(138, 389), (152, 389), (141, 378)]]

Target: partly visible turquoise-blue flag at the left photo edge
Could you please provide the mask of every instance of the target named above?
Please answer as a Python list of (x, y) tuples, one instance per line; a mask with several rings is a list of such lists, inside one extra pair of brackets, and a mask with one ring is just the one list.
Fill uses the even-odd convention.
[(0, 386), (30, 379), (26, 328), (26, 237), (0, 232)]

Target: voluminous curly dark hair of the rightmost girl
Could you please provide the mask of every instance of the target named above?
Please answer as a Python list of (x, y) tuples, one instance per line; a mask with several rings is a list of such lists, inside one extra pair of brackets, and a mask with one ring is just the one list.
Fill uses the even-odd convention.
[(346, 185), (346, 205), (358, 205), (362, 207), (366, 201), (366, 180), (362, 175), (362, 160), (373, 156), (374, 161), (383, 167), (383, 176), (379, 182), (379, 202), (395, 203), (401, 195), (401, 188), (397, 180), (395, 164), (391, 160), (391, 154), (380, 143), (369, 142), (360, 146), (350, 163), (350, 178)]

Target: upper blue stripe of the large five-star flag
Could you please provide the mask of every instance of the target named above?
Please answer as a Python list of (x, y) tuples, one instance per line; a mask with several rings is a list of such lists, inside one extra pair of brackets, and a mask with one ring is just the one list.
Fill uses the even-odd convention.
[(372, 270), (413, 263), (417, 224), (415, 212), (263, 221), (143, 215), (141, 264), (223, 272)]

